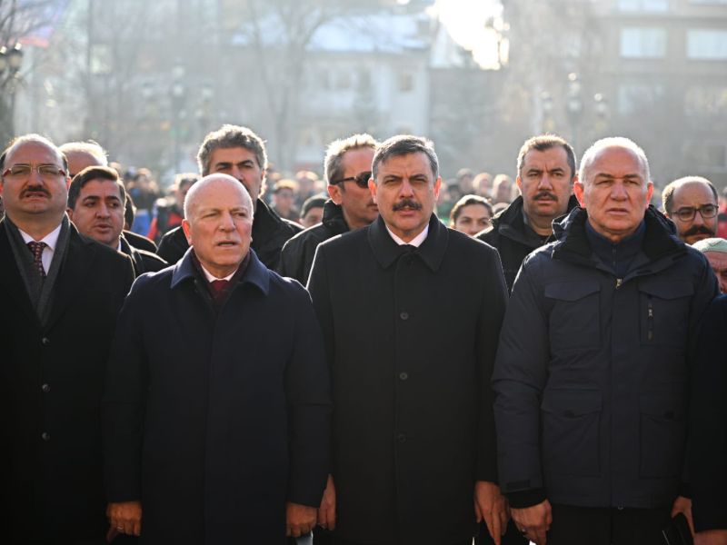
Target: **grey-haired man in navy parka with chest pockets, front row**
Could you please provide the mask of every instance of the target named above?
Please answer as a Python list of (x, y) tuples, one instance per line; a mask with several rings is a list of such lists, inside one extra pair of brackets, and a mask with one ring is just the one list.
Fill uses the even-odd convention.
[(538, 545), (657, 545), (691, 518), (691, 348), (717, 282), (648, 205), (649, 163), (593, 144), (556, 241), (515, 281), (493, 374), (500, 485)]

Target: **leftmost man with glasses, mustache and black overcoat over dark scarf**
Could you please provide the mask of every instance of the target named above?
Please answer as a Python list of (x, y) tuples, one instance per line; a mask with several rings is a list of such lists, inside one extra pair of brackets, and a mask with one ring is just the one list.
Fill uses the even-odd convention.
[(103, 543), (100, 402), (127, 257), (65, 215), (65, 158), (37, 134), (0, 156), (4, 542)]

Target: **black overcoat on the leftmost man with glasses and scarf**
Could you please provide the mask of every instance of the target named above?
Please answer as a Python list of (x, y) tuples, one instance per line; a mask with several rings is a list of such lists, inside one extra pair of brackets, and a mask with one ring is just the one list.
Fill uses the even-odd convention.
[(42, 326), (0, 222), (0, 468), (4, 542), (101, 540), (108, 529), (101, 395), (128, 257), (70, 225)]

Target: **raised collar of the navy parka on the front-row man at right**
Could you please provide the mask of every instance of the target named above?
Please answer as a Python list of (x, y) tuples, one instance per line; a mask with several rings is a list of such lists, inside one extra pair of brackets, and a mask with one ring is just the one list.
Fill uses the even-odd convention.
[[(553, 245), (553, 259), (590, 259), (592, 251), (585, 233), (587, 220), (588, 213), (579, 206), (553, 223), (555, 237), (558, 239)], [(646, 231), (643, 235), (642, 252), (650, 262), (686, 251), (684, 243), (675, 236), (674, 224), (652, 205), (646, 209), (643, 220)]]

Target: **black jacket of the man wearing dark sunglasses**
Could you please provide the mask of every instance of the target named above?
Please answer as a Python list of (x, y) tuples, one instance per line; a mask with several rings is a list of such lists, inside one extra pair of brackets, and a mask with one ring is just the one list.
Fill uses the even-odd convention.
[(289, 276), (305, 285), (308, 282), (318, 244), (348, 231), (341, 206), (331, 200), (326, 201), (323, 221), (296, 234), (285, 243), (280, 255), (278, 272), (281, 276)]

